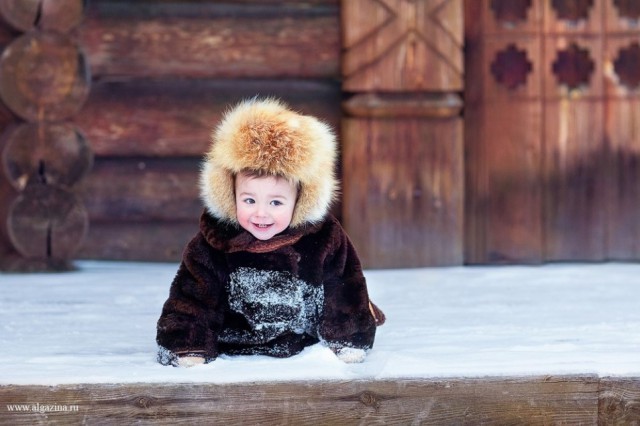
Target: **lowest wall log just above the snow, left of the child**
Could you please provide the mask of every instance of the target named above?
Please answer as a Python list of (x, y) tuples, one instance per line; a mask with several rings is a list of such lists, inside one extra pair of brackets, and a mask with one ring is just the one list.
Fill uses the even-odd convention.
[(76, 258), (178, 262), (197, 232), (198, 218), (183, 222), (93, 221)]

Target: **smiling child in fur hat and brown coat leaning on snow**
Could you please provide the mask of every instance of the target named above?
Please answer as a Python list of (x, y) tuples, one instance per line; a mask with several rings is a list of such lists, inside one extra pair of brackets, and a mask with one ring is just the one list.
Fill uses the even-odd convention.
[(363, 361), (384, 314), (329, 213), (331, 129), (256, 98), (230, 110), (212, 140), (200, 178), (206, 209), (158, 320), (158, 361), (289, 357), (319, 342), (345, 362)]

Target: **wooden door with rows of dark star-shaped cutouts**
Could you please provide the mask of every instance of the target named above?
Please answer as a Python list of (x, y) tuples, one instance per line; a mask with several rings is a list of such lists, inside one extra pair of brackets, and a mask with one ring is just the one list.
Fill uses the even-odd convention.
[(640, 257), (640, 6), (465, 5), (468, 263)]

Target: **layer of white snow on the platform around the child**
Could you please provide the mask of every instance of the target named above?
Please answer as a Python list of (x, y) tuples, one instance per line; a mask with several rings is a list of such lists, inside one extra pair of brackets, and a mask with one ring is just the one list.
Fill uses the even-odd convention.
[(0, 384), (640, 376), (640, 264), (370, 270), (387, 323), (364, 363), (316, 345), (190, 369), (155, 361), (177, 264), (78, 266), (0, 273)]

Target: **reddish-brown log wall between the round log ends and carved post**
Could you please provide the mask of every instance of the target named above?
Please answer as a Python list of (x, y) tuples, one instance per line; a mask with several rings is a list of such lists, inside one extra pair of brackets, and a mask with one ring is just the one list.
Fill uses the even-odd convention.
[(88, 2), (72, 31), (92, 80), (70, 122), (95, 156), (77, 257), (179, 259), (202, 212), (200, 158), (230, 104), (276, 96), (339, 129), (338, 20), (337, 0)]

